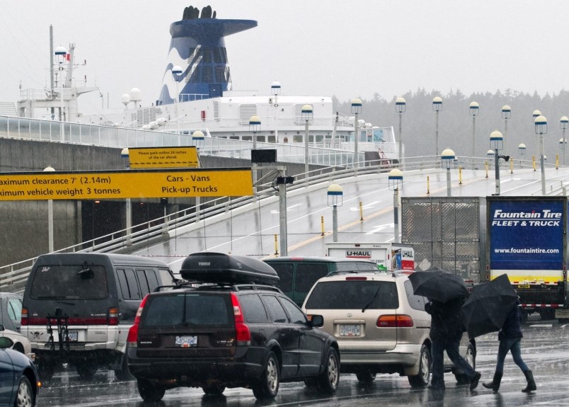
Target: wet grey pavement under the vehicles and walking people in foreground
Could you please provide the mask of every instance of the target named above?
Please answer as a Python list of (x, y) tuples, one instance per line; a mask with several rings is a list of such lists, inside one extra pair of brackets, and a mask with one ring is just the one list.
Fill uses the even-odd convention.
[(569, 370), (569, 325), (556, 321), (539, 321), (530, 316), (524, 325), (522, 357), (534, 372), (537, 391), (522, 393), (525, 378), (511, 355), (505, 362), (500, 393), (493, 394), (482, 382), (493, 377), (498, 335), (491, 333), (477, 339), (476, 369), (481, 372), (481, 383), (475, 391), (468, 386), (456, 386), (454, 376), (445, 374), (447, 389), (430, 391), (411, 389), (406, 377), (379, 374), (369, 386), (362, 386), (355, 375), (340, 378), (338, 392), (323, 397), (302, 383), (281, 384), (274, 401), (257, 401), (248, 389), (227, 389), (223, 396), (204, 396), (201, 389), (173, 389), (166, 391), (160, 403), (144, 403), (135, 382), (117, 382), (113, 372), (98, 372), (96, 378), (86, 382), (74, 371), (63, 370), (55, 374), (40, 394), (39, 407), (253, 407), (253, 406), (569, 406), (567, 374)]

